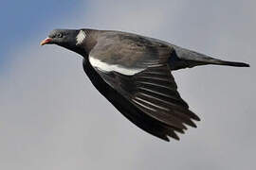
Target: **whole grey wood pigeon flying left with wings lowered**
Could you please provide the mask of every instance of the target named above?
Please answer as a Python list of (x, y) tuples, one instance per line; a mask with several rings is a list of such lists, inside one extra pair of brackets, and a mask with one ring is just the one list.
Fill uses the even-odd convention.
[(199, 117), (177, 92), (172, 72), (199, 65), (249, 67), (133, 33), (55, 29), (41, 45), (57, 44), (80, 54), (98, 91), (137, 127), (165, 141), (179, 140)]

